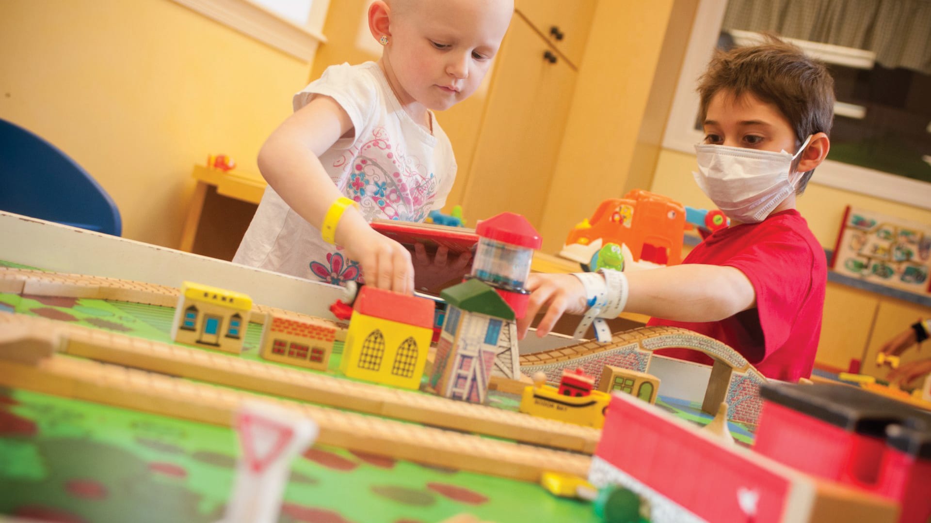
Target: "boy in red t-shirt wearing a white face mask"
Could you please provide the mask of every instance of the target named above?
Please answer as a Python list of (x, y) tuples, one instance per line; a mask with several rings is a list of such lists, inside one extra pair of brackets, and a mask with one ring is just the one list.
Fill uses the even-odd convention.
[[(585, 314), (577, 333), (622, 311), (648, 325), (695, 330), (734, 347), (765, 376), (798, 381), (815, 362), (827, 282), (824, 250), (795, 209), (828, 154), (833, 80), (776, 38), (719, 52), (699, 81), (705, 140), (695, 181), (731, 219), (681, 265), (618, 273), (531, 275), (522, 338), (541, 307), (543, 336), (563, 313)], [(694, 351), (658, 354), (711, 363)]]

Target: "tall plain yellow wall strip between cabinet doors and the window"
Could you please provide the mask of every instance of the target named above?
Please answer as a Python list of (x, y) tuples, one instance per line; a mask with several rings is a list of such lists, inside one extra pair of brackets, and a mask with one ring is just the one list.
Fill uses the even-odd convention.
[[(649, 102), (654, 79), (662, 78), (662, 86), (675, 85), (675, 74), (657, 76), (657, 70), (663, 69), (664, 41), (668, 29), (680, 24), (681, 12), (694, 10), (694, 1), (598, 3), (540, 227), (545, 252), (558, 250), (573, 225), (590, 216), (601, 200), (625, 192), (632, 162), (650, 166), (647, 172), (653, 170), (649, 153), (635, 157), (641, 127), (647, 121), (665, 121), (661, 114), (648, 111), (663, 105)], [(689, 14), (688, 20), (693, 16)], [(678, 29), (672, 39), (684, 46), (687, 32)], [(681, 50), (671, 52), (676, 55)], [(657, 94), (662, 96), (654, 96), (654, 101), (668, 98), (671, 91)]]

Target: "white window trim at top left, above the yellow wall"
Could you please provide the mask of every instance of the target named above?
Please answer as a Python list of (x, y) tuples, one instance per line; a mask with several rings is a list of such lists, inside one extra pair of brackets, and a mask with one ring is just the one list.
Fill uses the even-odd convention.
[[(317, 46), (327, 41), (323, 34), (320, 34), (319, 28), (296, 25), (249, 0), (174, 0), (174, 2), (299, 60), (307, 62), (314, 60)], [(317, 7), (317, 2), (314, 4), (311, 7), (308, 22), (320, 23), (322, 27), (322, 20), (325, 18), (329, 2), (321, 1), (321, 7)]]

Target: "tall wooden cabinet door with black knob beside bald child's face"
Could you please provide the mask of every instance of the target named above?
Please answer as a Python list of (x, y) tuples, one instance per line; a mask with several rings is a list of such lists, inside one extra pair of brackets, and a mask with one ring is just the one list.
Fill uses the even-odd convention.
[(509, 210), (539, 227), (575, 72), (519, 18), (497, 60), (463, 207), (470, 221)]

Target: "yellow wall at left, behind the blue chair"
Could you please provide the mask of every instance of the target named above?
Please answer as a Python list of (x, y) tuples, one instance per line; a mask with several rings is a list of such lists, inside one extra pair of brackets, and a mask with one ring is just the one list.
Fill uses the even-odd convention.
[(169, 0), (0, 2), (0, 118), (71, 155), (144, 242), (177, 247), (207, 154), (258, 172), (309, 71)]

